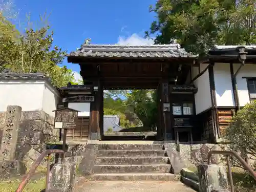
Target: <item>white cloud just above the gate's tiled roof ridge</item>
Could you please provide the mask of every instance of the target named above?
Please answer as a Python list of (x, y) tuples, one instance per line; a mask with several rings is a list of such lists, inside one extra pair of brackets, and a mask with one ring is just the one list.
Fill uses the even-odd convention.
[(119, 45), (130, 45), (130, 46), (142, 46), (142, 45), (153, 45), (153, 39), (145, 39), (139, 36), (137, 33), (132, 34), (130, 37), (118, 37)]

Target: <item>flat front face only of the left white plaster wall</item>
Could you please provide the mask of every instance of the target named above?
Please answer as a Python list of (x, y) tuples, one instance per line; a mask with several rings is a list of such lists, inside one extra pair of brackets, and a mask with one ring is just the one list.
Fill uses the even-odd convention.
[(44, 81), (0, 81), (0, 111), (19, 105), (23, 111), (42, 109)]

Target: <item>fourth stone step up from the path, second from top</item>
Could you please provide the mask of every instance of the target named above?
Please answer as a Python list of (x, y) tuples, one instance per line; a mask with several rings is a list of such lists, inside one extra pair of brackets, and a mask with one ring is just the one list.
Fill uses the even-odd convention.
[(98, 157), (164, 157), (165, 150), (99, 150)]

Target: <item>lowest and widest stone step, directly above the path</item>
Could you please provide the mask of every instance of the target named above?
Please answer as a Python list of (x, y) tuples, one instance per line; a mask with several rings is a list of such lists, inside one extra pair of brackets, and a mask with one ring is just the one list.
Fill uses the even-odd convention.
[(138, 180), (159, 180), (159, 181), (179, 181), (180, 175), (170, 173), (106, 173), (94, 174), (87, 176), (90, 180), (106, 180), (106, 181), (138, 181)]

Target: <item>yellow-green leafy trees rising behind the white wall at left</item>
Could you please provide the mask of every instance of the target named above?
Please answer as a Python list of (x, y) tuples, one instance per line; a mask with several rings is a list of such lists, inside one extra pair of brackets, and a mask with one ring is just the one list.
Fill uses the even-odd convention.
[[(53, 46), (53, 31), (50, 26), (18, 31), (0, 13), (0, 66), (12, 72), (48, 75), (57, 87), (74, 81), (73, 73), (66, 66), (58, 65), (65, 58), (65, 51)], [(1, 70), (0, 69), (0, 70)]]

